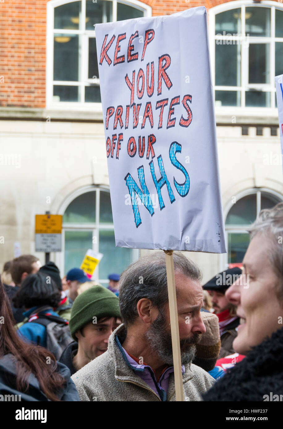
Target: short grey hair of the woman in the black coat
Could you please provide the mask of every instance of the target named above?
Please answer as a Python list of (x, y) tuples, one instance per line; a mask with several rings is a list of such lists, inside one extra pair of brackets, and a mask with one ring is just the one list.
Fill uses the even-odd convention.
[(253, 239), (258, 233), (266, 236), (269, 243), (268, 258), (280, 279), (277, 298), (279, 301), (283, 301), (283, 202), (260, 211), (248, 232), (250, 239)]

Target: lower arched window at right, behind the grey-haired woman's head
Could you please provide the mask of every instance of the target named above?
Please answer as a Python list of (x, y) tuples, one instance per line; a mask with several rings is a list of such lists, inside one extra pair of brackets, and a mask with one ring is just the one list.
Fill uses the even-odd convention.
[(232, 198), (232, 206), (225, 222), (227, 263), (241, 263), (250, 243), (247, 229), (263, 208), (271, 208), (282, 201), (279, 194), (266, 190), (250, 190)]

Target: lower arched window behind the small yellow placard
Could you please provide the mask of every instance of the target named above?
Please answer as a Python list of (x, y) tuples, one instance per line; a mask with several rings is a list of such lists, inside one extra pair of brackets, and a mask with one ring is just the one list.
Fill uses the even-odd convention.
[(138, 256), (137, 249), (115, 247), (110, 192), (106, 187), (79, 190), (63, 209), (64, 261), (61, 270), (79, 267), (88, 249), (99, 251), (103, 258), (93, 278), (107, 284), (110, 273), (121, 273)]

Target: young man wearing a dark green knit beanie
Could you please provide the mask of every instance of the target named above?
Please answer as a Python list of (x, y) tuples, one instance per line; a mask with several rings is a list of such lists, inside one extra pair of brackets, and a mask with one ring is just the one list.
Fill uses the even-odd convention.
[(108, 338), (122, 323), (118, 297), (102, 286), (93, 286), (76, 297), (70, 318), (75, 341), (64, 350), (60, 362), (73, 375), (91, 360), (103, 354)]

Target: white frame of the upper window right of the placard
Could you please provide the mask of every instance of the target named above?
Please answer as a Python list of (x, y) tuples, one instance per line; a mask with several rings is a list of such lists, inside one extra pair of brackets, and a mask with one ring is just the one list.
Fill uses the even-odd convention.
[[(243, 41), (245, 37), (245, 8), (253, 7), (270, 7), (271, 8), (271, 37), (256, 37), (250, 36), (249, 43), (270, 43), (270, 84), (249, 84), (248, 83), (248, 54), (249, 46), (241, 44), (241, 86), (217, 86), (215, 85), (215, 15), (231, 9), (241, 8), (241, 36), (217, 36), (217, 39), (231, 39)], [(211, 57), (211, 71), (213, 80), (214, 99), (215, 91), (217, 90), (238, 90), (241, 93), (240, 106), (215, 106), (216, 114), (218, 115), (252, 115), (252, 116), (275, 116), (277, 117), (277, 108), (275, 107), (275, 81), (273, 76), (275, 74), (275, 9), (283, 11), (283, 4), (275, 1), (262, 1), (261, 3), (254, 3), (253, 0), (237, 0), (228, 3), (222, 3), (215, 6), (208, 11), (209, 18), (209, 40), (210, 40), (210, 57)], [(276, 41), (283, 42), (283, 38), (277, 38)], [(246, 107), (245, 106), (245, 92), (247, 89), (261, 89), (263, 92), (271, 92), (271, 107)]]

